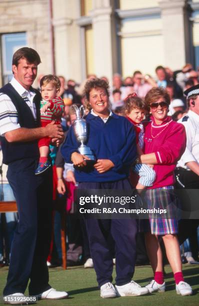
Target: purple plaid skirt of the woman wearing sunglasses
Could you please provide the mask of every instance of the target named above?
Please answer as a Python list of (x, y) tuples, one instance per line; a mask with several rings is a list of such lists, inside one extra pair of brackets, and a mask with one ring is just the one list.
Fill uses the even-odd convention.
[(149, 219), (140, 220), (140, 231), (156, 235), (174, 234), (178, 232), (179, 202), (174, 194), (173, 186), (147, 189), (144, 199), (148, 209), (166, 209), (166, 214), (149, 213)]

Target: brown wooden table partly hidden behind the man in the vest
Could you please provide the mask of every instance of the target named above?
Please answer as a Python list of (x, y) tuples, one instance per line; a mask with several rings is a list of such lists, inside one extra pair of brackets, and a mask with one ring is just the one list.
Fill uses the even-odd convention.
[[(17, 212), (17, 205), (15, 201), (0, 201), (0, 212)], [(61, 211), (61, 250), (63, 269), (66, 269), (66, 247), (65, 247), (65, 213), (64, 209)]]

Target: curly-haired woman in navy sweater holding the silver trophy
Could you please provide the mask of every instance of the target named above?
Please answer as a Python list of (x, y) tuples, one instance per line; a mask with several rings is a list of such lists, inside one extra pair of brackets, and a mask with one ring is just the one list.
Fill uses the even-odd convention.
[[(105, 80), (91, 79), (84, 89), (92, 109), (85, 119), (81, 119), (80, 111), (76, 111), (77, 120), (68, 131), (61, 153), (66, 162), (74, 164), (78, 188), (131, 189), (129, 167), (136, 158), (133, 126), (126, 118), (109, 110), (108, 84)], [(131, 280), (136, 255), (136, 220), (87, 218), (85, 223), (100, 296), (148, 293), (146, 288)], [(115, 287), (111, 283), (113, 263), (112, 249), (108, 243), (110, 235), (115, 243)]]

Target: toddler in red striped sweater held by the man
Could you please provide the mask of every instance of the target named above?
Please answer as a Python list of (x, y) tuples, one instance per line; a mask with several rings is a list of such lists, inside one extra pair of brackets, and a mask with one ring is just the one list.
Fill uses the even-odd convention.
[[(44, 75), (40, 80), (40, 88), (42, 97), (40, 102), (41, 126), (44, 127), (53, 120), (55, 124), (60, 124), (64, 103), (62, 98), (57, 96), (60, 89), (59, 78), (52, 74)], [(51, 165), (49, 160), (47, 160), (50, 140), (50, 137), (44, 137), (38, 140), (40, 158), (35, 170), (36, 175), (43, 173)]]

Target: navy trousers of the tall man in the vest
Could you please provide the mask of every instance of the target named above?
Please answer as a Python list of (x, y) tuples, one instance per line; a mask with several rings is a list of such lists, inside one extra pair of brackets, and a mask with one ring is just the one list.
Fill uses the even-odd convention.
[(7, 282), (3, 295), (24, 293), (28, 280), (29, 294), (50, 288), (46, 264), (51, 238), (52, 172), (36, 176), (36, 161), (25, 158), (8, 165), (7, 179), (18, 209)]

